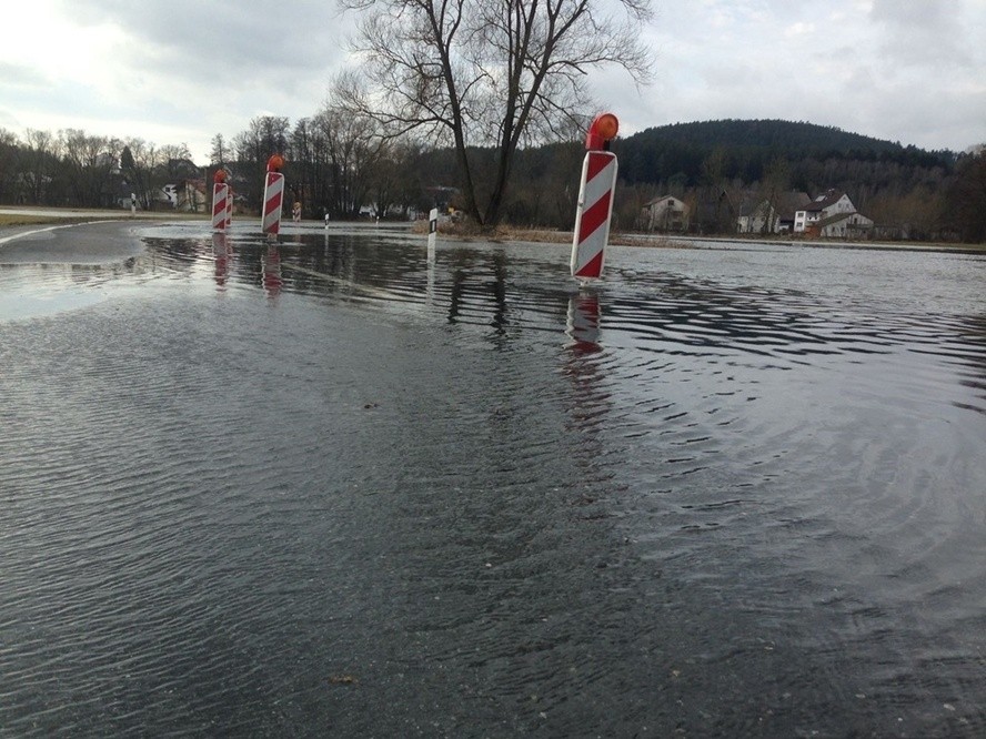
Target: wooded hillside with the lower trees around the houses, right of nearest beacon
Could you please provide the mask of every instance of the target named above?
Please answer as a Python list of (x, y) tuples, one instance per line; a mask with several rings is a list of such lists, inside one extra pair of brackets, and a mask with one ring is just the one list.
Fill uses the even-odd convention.
[[(653, 196), (674, 195), (692, 206), (690, 226), (704, 233), (735, 227), (751, 205), (777, 193), (814, 198), (846, 192), (886, 231), (916, 240), (983, 241), (976, 201), (983, 154), (925, 151), (833, 126), (789, 121), (725, 120), (648, 129), (616, 142), (623, 192), (622, 221)], [(635, 196), (633, 196), (635, 194)], [(983, 193), (986, 199), (986, 192)]]

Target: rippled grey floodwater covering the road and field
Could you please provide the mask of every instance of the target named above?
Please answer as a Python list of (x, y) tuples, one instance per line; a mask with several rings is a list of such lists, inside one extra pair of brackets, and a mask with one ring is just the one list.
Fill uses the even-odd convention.
[(0, 735), (986, 735), (986, 257), (11, 246)]

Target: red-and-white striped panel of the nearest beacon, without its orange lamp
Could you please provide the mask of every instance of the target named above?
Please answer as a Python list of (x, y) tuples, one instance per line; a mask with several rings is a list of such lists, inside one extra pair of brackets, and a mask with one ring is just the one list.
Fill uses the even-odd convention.
[(600, 277), (603, 273), (603, 252), (610, 240), (615, 185), (616, 154), (608, 151), (586, 153), (572, 239), (573, 277)]

